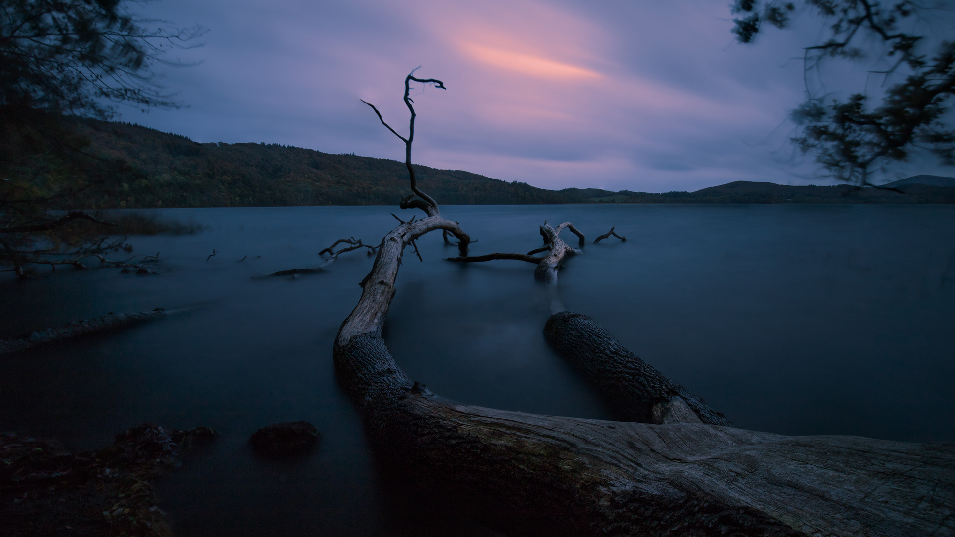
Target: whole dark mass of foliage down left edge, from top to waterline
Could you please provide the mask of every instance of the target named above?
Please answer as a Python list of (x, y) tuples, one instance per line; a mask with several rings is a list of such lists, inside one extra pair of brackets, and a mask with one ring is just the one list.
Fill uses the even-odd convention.
[[(125, 161), (97, 155), (77, 119), (108, 118), (114, 105), (172, 107), (154, 79), (159, 55), (184, 48), (201, 28), (166, 29), (127, 10), (127, 0), (9, 0), (0, 5), (0, 260), (81, 267), (83, 255), (124, 247), (87, 213)], [(147, 28), (148, 27), (148, 28)], [(96, 225), (96, 226), (94, 226)], [(53, 260), (51, 255), (66, 256)]]

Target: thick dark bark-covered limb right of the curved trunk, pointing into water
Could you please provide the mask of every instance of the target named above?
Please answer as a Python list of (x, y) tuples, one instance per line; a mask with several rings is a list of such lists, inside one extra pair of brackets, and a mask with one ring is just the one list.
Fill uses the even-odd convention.
[(703, 399), (631, 353), (586, 315), (555, 313), (547, 319), (543, 333), (558, 354), (581, 371), (627, 421), (731, 424)]

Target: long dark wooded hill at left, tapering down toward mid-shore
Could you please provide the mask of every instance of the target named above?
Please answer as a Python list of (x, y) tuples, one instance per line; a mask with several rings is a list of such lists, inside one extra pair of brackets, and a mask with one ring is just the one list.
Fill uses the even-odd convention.
[[(80, 128), (89, 150), (130, 164), (130, 180), (111, 188), (124, 207), (393, 205), (412, 193), (400, 161), (275, 143), (199, 143), (128, 123), (84, 121)], [(585, 203), (614, 194), (557, 192), (422, 165), (415, 172), (440, 204)]]

